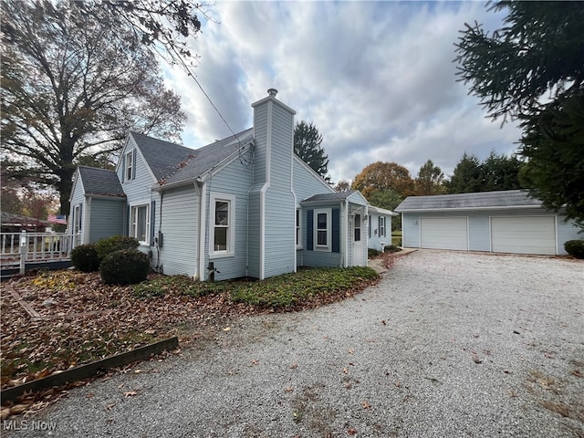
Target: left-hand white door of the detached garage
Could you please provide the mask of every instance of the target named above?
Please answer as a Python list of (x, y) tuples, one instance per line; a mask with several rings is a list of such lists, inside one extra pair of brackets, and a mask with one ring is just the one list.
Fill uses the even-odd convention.
[(425, 217), (420, 219), (422, 248), (468, 249), (466, 217)]

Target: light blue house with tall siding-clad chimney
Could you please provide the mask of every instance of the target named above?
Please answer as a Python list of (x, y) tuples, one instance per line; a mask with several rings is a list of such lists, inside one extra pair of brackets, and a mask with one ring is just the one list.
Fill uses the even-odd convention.
[(235, 136), (193, 150), (130, 132), (115, 172), (79, 167), (68, 224), (78, 243), (131, 235), (154, 269), (200, 280), (366, 266), (370, 211), (388, 241), (392, 213), (336, 193), (294, 154), (295, 111), (276, 92)]

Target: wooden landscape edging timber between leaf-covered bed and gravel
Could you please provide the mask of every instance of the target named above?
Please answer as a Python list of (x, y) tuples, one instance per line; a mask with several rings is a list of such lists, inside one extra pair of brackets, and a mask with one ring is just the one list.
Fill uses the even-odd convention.
[(53, 386), (60, 386), (65, 383), (87, 379), (95, 375), (99, 370), (109, 370), (111, 368), (123, 367), (124, 365), (127, 365), (130, 362), (134, 362), (136, 360), (145, 360), (152, 354), (159, 354), (164, 350), (171, 351), (172, 349), (177, 349), (178, 346), (179, 339), (176, 336), (169, 339), (163, 339), (138, 349), (132, 349), (131, 351), (126, 351), (125, 353), (116, 354), (110, 358), (97, 360), (85, 365), (79, 365), (78, 367), (72, 368), (70, 370), (52, 374), (42, 379), (37, 379), (36, 381), (28, 381), (22, 385), (7, 388), (0, 391), (0, 397), (2, 399), (2, 403), (4, 404), (5, 401), (15, 400), (16, 397), (24, 394), (25, 392), (39, 391), (46, 388), (51, 388)]

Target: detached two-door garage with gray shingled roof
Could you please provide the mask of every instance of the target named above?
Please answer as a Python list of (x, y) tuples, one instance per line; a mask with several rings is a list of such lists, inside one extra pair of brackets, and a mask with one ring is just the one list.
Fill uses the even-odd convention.
[(521, 190), (409, 196), (395, 211), (405, 247), (565, 255), (564, 242), (581, 238)]

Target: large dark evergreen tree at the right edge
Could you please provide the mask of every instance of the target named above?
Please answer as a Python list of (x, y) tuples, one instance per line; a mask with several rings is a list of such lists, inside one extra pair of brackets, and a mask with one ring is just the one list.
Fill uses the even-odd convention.
[(465, 25), (459, 76), (493, 119), (520, 120), (530, 193), (584, 224), (584, 5), (501, 0), (504, 27)]

